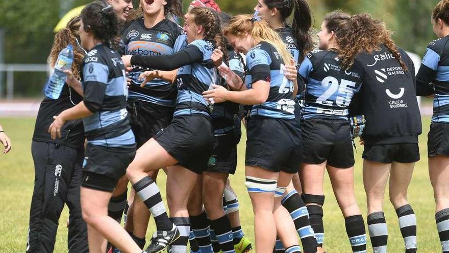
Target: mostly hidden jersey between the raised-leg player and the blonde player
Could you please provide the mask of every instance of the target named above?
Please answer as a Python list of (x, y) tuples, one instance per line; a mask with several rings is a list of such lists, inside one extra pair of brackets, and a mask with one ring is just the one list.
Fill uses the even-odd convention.
[[(228, 59), (228, 65), (231, 71), (243, 80), (243, 63), (234, 50), (228, 51)], [(221, 85), (227, 87), (226, 80), (223, 78), (221, 78)], [(214, 104), (214, 109), (212, 110), (211, 116), (215, 135), (228, 134), (236, 130), (235, 118), (238, 112), (239, 104), (237, 103), (226, 101), (223, 103)]]

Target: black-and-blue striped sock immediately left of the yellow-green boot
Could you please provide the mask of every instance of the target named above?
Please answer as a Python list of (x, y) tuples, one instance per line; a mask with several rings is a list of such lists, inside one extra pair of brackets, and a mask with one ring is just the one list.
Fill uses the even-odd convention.
[(223, 253), (235, 253), (231, 222), (227, 215), (210, 221)]

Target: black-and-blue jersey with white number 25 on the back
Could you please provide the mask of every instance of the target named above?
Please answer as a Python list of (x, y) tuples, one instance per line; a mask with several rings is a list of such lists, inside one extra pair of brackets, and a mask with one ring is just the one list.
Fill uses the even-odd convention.
[(362, 84), (361, 68), (345, 71), (334, 51), (314, 50), (300, 66), (306, 83), (303, 118), (327, 117), (347, 120), (348, 107)]

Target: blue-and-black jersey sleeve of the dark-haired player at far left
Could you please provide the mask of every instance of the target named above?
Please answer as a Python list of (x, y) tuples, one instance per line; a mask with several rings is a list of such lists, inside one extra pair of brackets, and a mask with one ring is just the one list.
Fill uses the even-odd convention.
[(95, 113), (103, 107), (109, 67), (101, 56), (93, 54), (89, 57), (89, 54), (83, 62), (84, 104)]

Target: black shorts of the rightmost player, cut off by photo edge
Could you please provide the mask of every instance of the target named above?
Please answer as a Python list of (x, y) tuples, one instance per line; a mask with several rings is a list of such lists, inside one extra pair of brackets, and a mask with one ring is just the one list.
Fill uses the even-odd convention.
[(429, 156), (449, 156), (449, 123), (432, 122), (427, 138)]

